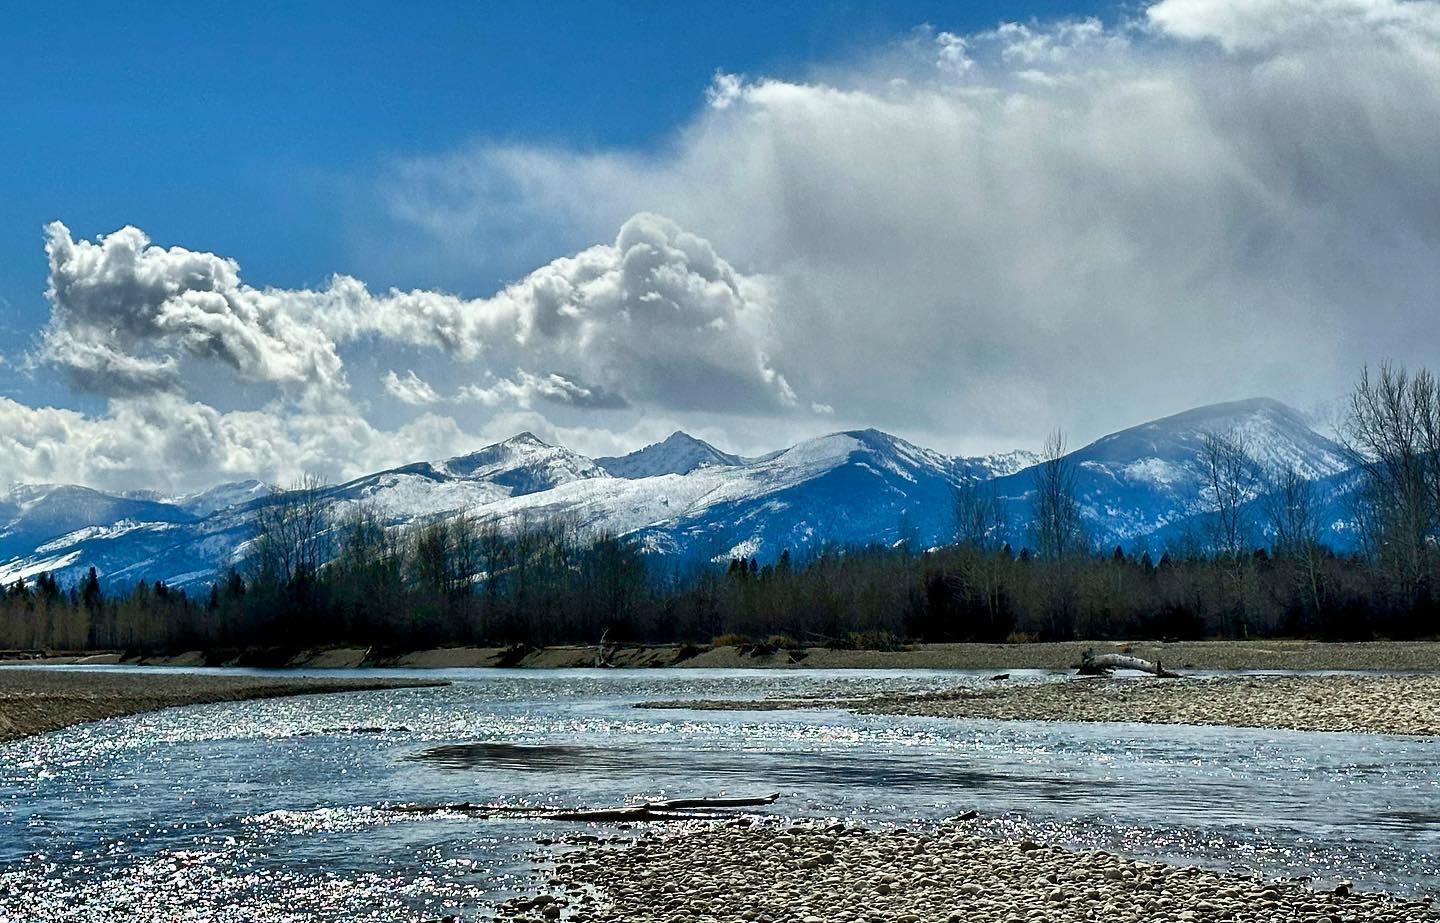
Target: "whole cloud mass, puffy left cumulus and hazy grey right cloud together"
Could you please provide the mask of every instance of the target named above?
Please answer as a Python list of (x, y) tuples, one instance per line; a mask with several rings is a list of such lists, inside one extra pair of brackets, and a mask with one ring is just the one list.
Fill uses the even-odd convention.
[(471, 295), (50, 225), (33, 370), (101, 400), (0, 402), (0, 471), (346, 477), (520, 429), (995, 451), (1329, 399), (1440, 350), (1440, 3), (922, 29), (824, 79), (717, 72), (652, 148), (477, 141), (377, 181), (380, 256)]

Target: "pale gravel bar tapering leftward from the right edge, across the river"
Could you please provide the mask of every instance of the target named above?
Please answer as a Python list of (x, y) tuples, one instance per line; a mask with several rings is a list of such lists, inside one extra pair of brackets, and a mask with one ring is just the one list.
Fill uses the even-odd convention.
[(1194, 680), (1068, 678), (1054, 683), (867, 698), (691, 700), (645, 708), (850, 708), (864, 714), (1011, 721), (1139, 721), (1289, 730), (1440, 734), (1440, 675), (1231, 675)]

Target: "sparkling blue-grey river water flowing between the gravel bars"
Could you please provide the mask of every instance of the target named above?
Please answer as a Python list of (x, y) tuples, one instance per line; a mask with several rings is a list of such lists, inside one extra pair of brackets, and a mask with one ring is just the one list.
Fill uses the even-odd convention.
[(978, 809), (998, 832), (1440, 893), (1437, 739), (634, 708), (986, 683), (972, 672), (419, 675), (454, 684), (197, 706), (0, 744), (0, 922), (478, 919), (523, 886), (537, 837), (576, 828), (390, 805), (768, 792), (792, 816)]

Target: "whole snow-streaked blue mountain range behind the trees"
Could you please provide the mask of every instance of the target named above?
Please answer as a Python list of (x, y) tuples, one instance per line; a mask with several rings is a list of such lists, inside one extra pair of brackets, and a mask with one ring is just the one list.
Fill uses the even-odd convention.
[[(1097, 544), (1162, 549), (1205, 517), (1202, 441), (1238, 432), (1263, 467), (1290, 465), (1326, 500), (1332, 544), (1346, 546), (1336, 485), (1345, 449), (1277, 400), (1211, 405), (1081, 446), (1073, 462), (1081, 515)], [(984, 484), (1005, 511), (1015, 547), (1028, 536), (1040, 458), (950, 456), (876, 431), (837, 432), (759, 458), (727, 454), (683, 432), (629, 455), (588, 458), (520, 433), (469, 455), (369, 474), (325, 487), (336, 511), (366, 503), (395, 526), (461, 513), (514, 524), (572, 517), (582, 528), (634, 537), (681, 560), (773, 559), (827, 543), (933, 546), (953, 536), (953, 492)], [(271, 490), (259, 481), (164, 497), (75, 485), (0, 494), (0, 580), (42, 570), (62, 583), (96, 567), (109, 585), (163, 579), (203, 585), (243, 553), (251, 518)]]

